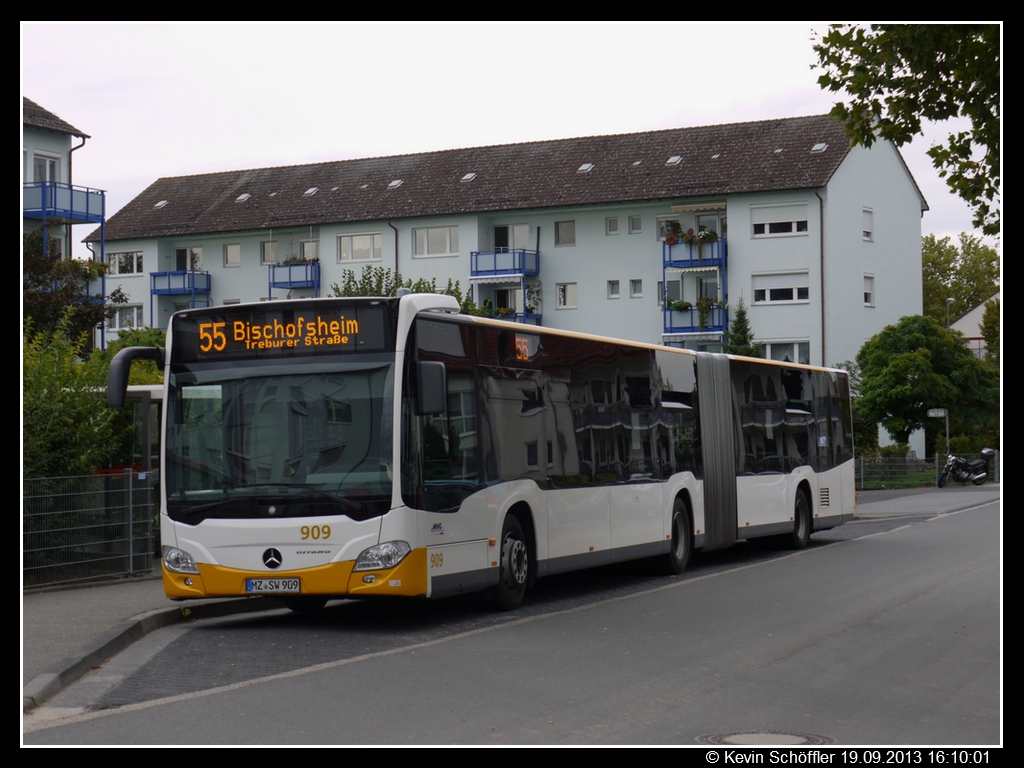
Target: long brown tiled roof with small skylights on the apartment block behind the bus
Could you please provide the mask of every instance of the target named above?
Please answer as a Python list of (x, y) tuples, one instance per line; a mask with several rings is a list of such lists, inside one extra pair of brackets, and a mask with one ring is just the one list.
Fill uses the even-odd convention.
[(848, 152), (817, 116), (176, 176), (111, 217), (106, 240), (817, 187)]

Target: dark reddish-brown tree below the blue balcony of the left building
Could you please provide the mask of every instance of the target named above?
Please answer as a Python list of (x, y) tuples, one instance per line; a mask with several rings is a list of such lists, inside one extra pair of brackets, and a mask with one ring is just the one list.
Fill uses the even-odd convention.
[(31, 318), (35, 333), (44, 336), (62, 328), (68, 338), (77, 342), (83, 334), (113, 317), (117, 305), (128, 299), (120, 289), (109, 300), (101, 294), (90, 295), (89, 284), (99, 280), (104, 265), (63, 258), (54, 238), (49, 238), (43, 256), (45, 231), (37, 229), (24, 238), (23, 319), (28, 324)]

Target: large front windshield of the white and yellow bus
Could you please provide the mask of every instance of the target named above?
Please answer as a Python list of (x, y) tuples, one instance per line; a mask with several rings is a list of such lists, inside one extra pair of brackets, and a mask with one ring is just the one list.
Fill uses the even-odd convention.
[(391, 500), (393, 391), (387, 354), (301, 367), (172, 366), (168, 514), (189, 524), (383, 514)]

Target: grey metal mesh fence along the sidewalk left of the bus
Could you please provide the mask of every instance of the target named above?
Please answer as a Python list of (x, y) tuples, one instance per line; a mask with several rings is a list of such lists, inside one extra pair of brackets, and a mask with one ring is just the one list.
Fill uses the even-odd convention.
[[(159, 531), (156, 474), (23, 480), (26, 587), (148, 572)], [(156, 535), (156, 538), (155, 538)]]

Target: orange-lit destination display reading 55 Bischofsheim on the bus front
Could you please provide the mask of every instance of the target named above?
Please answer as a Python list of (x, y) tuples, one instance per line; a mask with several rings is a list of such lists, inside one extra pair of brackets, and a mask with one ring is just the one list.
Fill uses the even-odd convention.
[(174, 315), (177, 362), (382, 352), (394, 349), (389, 307), (380, 300), (281, 302)]

